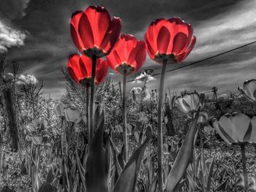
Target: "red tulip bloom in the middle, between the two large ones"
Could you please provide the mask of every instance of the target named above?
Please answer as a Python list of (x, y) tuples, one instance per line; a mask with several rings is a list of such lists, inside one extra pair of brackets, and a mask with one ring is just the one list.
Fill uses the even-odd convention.
[(146, 60), (146, 44), (130, 34), (122, 34), (115, 49), (107, 56), (111, 68), (121, 74), (137, 72)]

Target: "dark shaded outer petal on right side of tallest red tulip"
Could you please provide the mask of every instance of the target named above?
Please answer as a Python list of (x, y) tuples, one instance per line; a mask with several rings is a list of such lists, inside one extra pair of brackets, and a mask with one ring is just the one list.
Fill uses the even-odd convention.
[(120, 18), (113, 18), (110, 27), (108, 28), (107, 33), (100, 45), (100, 48), (108, 55), (113, 47), (116, 45), (118, 38), (120, 36), (121, 31), (121, 19)]

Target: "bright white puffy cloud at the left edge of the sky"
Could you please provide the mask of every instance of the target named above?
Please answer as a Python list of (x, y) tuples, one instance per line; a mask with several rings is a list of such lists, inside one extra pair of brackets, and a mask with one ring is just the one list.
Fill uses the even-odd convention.
[(0, 20), (0, 53), (7, 52), (7, 49), (10, 47), (24, 45), (25, 38), (26, 34), (6, 26)]

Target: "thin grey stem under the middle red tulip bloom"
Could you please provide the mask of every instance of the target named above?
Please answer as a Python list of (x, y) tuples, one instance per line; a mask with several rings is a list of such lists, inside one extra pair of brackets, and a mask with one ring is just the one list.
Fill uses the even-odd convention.
[(123, 139), (124, 139), (124, 161), (128, 159), (128, 143), (127, 143), (127, 106), (126, 106), (126, 88), (127, 88), (127, 70), (124, 69), (123, 76)]

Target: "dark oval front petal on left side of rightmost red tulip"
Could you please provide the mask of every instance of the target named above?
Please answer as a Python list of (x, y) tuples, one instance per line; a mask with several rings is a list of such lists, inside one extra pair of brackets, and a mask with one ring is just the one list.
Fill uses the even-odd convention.
[(170, 43), (170, 32), (168, 31), (168, 28), (166, 28), (165, 26), (162, 26), (157, 36), (157, 48), (159, 50), (159, 53), (165, 54), (169, 43)]

